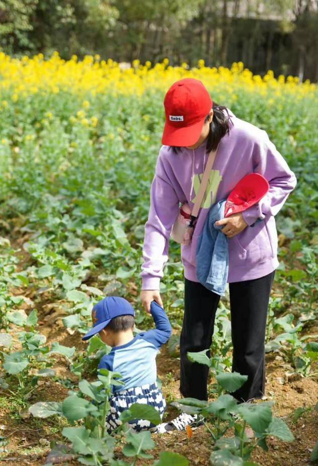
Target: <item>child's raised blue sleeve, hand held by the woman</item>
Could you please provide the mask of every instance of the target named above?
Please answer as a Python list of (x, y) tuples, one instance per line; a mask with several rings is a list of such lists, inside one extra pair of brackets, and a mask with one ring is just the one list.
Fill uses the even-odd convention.
[(139, 337), (152, 343), (159, 349), (169, 340), (172, 329), (164, 309), (159, 306), (156, 301), (152, 301), (150, 304), (150, 313), (155, 321), (156, 328), (154, 330), (148, 330), (148, 332), (145, 333), (140, 333)]

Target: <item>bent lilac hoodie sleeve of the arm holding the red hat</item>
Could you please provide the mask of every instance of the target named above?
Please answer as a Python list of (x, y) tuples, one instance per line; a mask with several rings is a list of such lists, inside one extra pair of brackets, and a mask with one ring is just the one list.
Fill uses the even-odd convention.
[(296, 186), (296, 177), (289, 169), (286, 161), (269, 140), (265, 138), (254, 147), (254, 173), (263, 175), (269, 183), (269, 191), (263, 199), (249, 209), (242, 212), (248, 225), (253, 225), (257, 219), (264, 219), (276, 215), (284, 205), (288, 194)]

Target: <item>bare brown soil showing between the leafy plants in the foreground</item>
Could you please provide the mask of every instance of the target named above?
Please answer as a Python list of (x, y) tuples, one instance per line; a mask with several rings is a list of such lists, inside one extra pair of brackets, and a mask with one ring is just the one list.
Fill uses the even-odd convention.
[[(24, 260), (27, 261), (26, 255), (24, 256)], [(36, 301), (36, 307), (39, 310), (39, 331), (46, 335), (49, 343), (57, 341), (65, 346), (75, 346), (77, 350), (85, 349), (86, 344), (81, 342), (80, 334), (78, 332), (69, 334), (63, 327), (61, 318), (66, 315), (66, 312), (62, 301), (54, 302), (52, 297), (46, 293), (43, 293), (39, 298), (34, 290), (29, 290), (29, 293), (21, 290), (21, 294), (23, 292), (30, 299)], [(26, 305), (25, 308), (28, 313), (32, 307)], [(305, 329), (305, 334), (314, 335), (318, 333), (314, 324), (309, 324), (308, 327)], [(56, 369), (59, 377), (76, 380), (76, 377), (69, 372), (65, 358), (57, 355), (54, 359), (53, 368)], [(292, 443), (284, 443), (270, 438), (268, 441), (269, 451), (265, 452), (257, 447), (251, 459), (261, 466), (308, 465), (310, 451), (318, 438), (318, 413), (311, 410), (298, 419), (295, 424), (292, 423), (291, 417), (296, 408), (314, 407), (317, 403), (318, 378), (304, 378), (298, 374), (291, 375), (288, 364), (280, 356), (277, 357), (273, 353), (268, 355), (266, 359), (267, 399), (275, 401), (274, 415), (283, 418), (287, 422), (295, 436), (295, 440)], [(157, 368), (167, 403), (180, 398), (179, 360), (172, 358), (168, 354), (166, 347), (162, 348), (158, 355)], [(6, 396), (5, 392), (0, 392), (0, 395)], [(67, 389), (61, 383), (44, 379), (40, 382), (40, 386), (28, 400), (28, 403), (61, 401), (66, 396)], [(17, 411), (19, 411), (19, 407)], [(168, 406), (165, 419), (170, 420), (177, 414), (175, 408)], [(30, 416), (21, 419), (9, 407), (3, 409), (0, 413), (0, 435), (7, 437), (8, 445), (4, 449), (0, 444), (0, 461), (6, 466), (20, 464), (42, 466), (50, 450), (48, 444), (43, 444), (43, 439), (47, 441), (62, 440), (60, 432), (63, 425), (65, 425), (65, 422), (60, 418), (35, 419)], [(152, 452), (155, 458), (159, 457), (161, 451), (170, 450), (186, 456), (189, 459), (190, 466), (209, 465), (213, 442), (203, 426), (194, 430), (191, 438), (187, 437), (186, 432), (172, 432), (170, 434), (153, 435), (153, 439), (156, 443), (156, 448)], [(122, 457), (120, 449), (118, 454), (119, 457)], [(137, 466), (151, 465), (153, 461), (153, 459), (139, 460)], [(79, 465), (77, 461), (65, 462), (64, 466), (66, 464), (69, 466)]]

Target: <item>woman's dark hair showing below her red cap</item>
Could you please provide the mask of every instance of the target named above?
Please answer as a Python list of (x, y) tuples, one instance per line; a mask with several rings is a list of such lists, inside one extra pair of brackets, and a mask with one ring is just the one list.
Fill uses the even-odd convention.
[[(229, 126), (229, 112), (226, 107), (219, 105), (216, 102), (213, 103), (213, 119), (210, 123), (210, 130), (206, 141), (206, 151), (217, 150), (219, 142), (226, 134), (230, 132)], [(208, 121), (208, 115), (204, 122)], [(181, 150), (181, 147), (171, 145), (170, 148), (173, 152), (177, 153)]]

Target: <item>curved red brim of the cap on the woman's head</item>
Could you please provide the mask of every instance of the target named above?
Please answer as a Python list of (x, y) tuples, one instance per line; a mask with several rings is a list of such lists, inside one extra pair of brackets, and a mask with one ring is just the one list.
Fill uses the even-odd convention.
[(197, 142), (201, 135), (205, 117), (191, 126), (175, 126), (166, 121), (161, 142), (163, 145), (186, 147)]

